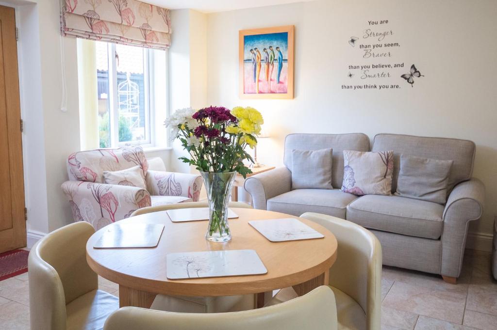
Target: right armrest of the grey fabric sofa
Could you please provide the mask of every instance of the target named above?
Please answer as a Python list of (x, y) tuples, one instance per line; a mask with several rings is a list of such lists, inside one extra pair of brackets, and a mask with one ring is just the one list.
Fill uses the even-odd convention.
[(478, 179), (456, 185), (443, 211), (441, 274), (458, 277), (466, 246), (468, 225), (482, 216), (485, 186)]

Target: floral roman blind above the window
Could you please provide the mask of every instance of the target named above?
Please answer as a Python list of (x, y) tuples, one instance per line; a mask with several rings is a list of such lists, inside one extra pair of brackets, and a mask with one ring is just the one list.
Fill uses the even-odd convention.
[(62, 33), (68, 37), (166, 49), (169, 9), (138, 0), (62, 0)]

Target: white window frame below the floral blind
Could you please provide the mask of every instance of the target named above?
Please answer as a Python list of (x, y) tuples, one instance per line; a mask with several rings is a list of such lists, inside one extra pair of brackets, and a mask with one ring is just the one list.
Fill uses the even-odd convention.
[(144, 106), (145, 106), (145, 136), (144, 141), (119, 141), (119, 96), (117, 91), (117, 62), (116, 62), (116, 44), (107, 43), (108, 68), (109, 68), (109, 125), (110, 125), (110, 146), (117, 148), (122, 146), (140, 145), (143, 148), (155, 146), (155, 122), (154, 107), (154, 52), (148, 48), (143, 48), (143, 72), (144, 72)]

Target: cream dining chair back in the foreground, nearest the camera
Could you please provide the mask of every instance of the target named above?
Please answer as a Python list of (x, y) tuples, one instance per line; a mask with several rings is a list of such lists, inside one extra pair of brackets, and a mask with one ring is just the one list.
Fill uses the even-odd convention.
[(123, 307), (105, 322), (104, 330), (336, 330), (333, 292), (320, 286), (276, 306), (221, 314), (184, 314)]

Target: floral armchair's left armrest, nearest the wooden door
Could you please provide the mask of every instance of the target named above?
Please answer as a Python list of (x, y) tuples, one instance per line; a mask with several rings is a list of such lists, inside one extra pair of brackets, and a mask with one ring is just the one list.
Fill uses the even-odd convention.
[(74, 221), (89, 222), (95, 229), (151, 206), (149, 192), (137, 187), (66, 181), (61, 188), (71, 204)]

